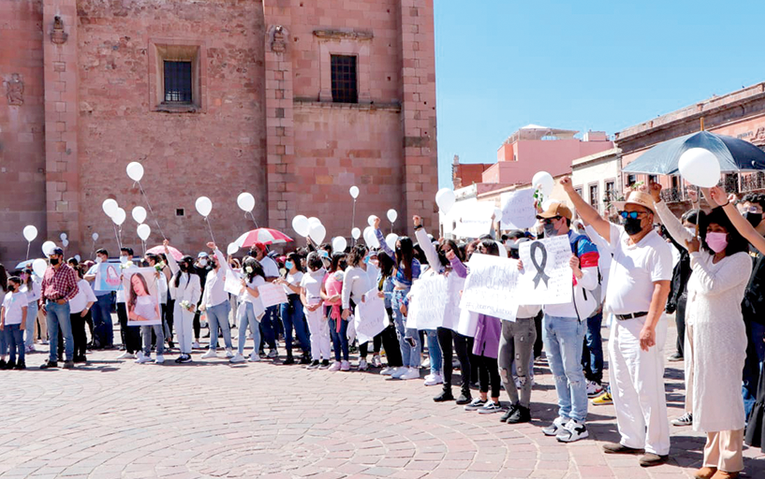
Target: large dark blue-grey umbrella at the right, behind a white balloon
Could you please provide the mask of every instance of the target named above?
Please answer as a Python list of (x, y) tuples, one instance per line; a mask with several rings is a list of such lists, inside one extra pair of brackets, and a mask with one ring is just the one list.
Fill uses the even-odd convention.
[(700, 131), (659, 143), (625, 166), (624, 173), (679, 174), (680, 156), (691, 148), (705, 148), (720, 161), (720, 171), (765, 170), (765, 152), (748, 141)]

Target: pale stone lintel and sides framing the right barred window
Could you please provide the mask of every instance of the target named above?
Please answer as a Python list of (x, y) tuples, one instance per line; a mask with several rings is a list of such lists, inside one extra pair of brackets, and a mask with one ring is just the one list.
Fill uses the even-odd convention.
[(319, 101), (332, 103), (332, 55), (357, 58), (356, 75), (359, 103), (372, 102), (371, 50), (373, 34), (366, 30), (314, 30), (319, 43)]

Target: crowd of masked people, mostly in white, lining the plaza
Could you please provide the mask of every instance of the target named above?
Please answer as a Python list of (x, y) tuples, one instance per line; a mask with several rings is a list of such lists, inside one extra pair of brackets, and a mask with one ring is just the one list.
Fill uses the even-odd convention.
[[(162, 324), (129, 325), (124, 303), (136, 298), (132, 290), (127, 297), (117, 291), (124, 349), (119, 358), (161, 364), (168, 351), (177, 349), (175, 362), (190, 362), (193, 350), (201, 348), (205, 324), (204, 360), (218, 357), (219, 333), (231, 363), (283, 358), (283, 364), (300, 363), (309, 370), (372, 367), (392, 379), (413, 380), (420, 378), (425, 357), (430, 373), (424, 384), (440, 386), (434, 401), (454, 401), (480, 414), (501, 413), (500, 420), (509, 424), (531, 420), (533, 366), (546, 359), (558, 415), (542, 429), (545, 435), (563, 443), (585, 439), (588, 398), (592, 404), (613, 403), (620, 441), (604, 444), (605, 453), (640, 454), (644, 467), (664, 464), (670, 424), (693, 426), (707, 434), (695, 477), (737, 477), (744, 469), (744, 442), (765, 444), (765, 196), (735, 200), (712, 188), (705, 191), (708, 208), (695, 201), (678, 218), (662, 201), (661, 187), (652, 183), (632, 191), (618, 205), (619, 221), (610, 222), (579, 196), (569, 178), (561, 184), (578, 219), (566, 204), (552, 202), (538, 208), (536, 235), (511, 231), (462, 243), (434, 240), (414, 216), (414, 240), (402, 236), (395, 245), (386, 243), (378, 219), (379, 248), (371, 250), (355, 244), (333, 251), (331, 245), (309, 241), (277, 257), (256, 243), (240, 262), (214, 243), (208, 243), (209, 253), (180, 259), (167, 241), (164, 254), (142, 259), (123, 247), (123, 267), (144, 263), (155, 269)], [(464, 288), (473, 254), (514, 258), (523, 270), (520, 245), (556, 236), (567, 237), (571, 245), (569, 303), (520, 306), (516, 319), (507, 321), (449, 301), (441, 327), (407, 327), (411, 302), (417, 301), (412, 286), (419, 279), (448, 277), (447, 296), (454, 298)], [(108, 260), (103, 249), (94, 263), (66, 261), (56, 249), (42, 278), (31, 269), (8, 276), (0, 267), (0, 367), (24, 369), (25, 354), (35, 351), (37, 341), (49, 344), (43, 369), (57, 368), (59, 360), (72, 368), (87, 361), (88, 349), (114, 348), (112, 292), (92, 286), (98, 263)], [(238, 295), (227, 291), (227, 275), (241, 283)], [(281, 285), (287, 302), (265, 307), (258, 288), (266, 283)], [(390, 320), (372, 340), (359, 343), (354, 311), (375, 291)], [(677, 350), (667, 359), (685, 361), (686, 410), (671, 422), (664, 390), (666, 313), (675, 314), (678, 329)], [(604, 320), (610, 329), (608, 385), (603, 383)], [(284, 354), (278, 350), (280, 337)], [(252, 347), (246, 354), (248, 339)], [(353, 367), (351, 352), (358, 353)], [(461, 378), (456, 396), (455, 367)]]

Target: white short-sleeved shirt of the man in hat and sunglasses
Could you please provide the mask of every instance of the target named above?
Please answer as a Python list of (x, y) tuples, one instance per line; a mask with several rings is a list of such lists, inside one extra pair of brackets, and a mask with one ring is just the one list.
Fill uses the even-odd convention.
[[(648, 312), (655, 281), (672, 279), (672, 251), (655, 231), (636, 245), (621, 226), (611, 225), (614, 258), (609, 274), (606, 304), (614, 314)], [(662, 305), (662, 308), (664, 305)]]

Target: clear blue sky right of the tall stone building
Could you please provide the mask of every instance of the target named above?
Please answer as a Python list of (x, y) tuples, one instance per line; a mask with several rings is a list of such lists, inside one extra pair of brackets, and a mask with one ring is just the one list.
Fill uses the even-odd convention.
[(613, 134), (765, 81), (761, 1), (434, 3), (441, 186), (529, 123)]

